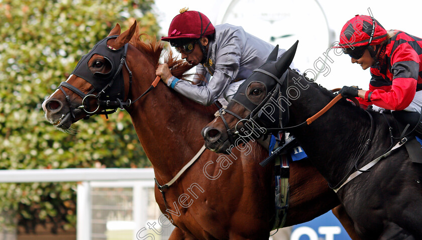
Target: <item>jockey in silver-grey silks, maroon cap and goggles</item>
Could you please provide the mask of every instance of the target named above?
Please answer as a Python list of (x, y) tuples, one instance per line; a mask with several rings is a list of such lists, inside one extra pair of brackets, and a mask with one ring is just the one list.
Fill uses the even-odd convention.
[[(204, 81), (197, 84), (180, 81), (171, 75), (167, 64), (158, 66), (157, 76), (176, 92), (202, 105), (217, 100), (227, 105), (244, 79), (264, 64), (274, 49), (242, 27), (214, 26), (202, 13), (186, 9), (174, 17), (168, 36), (161, 40), (170, 42), (181, 58), (196, 66), (197, 76), (203, 76)], [(285, 51), (279, 49), (278, 57)], [(290, 67), (294, 68), (293, 64)]]

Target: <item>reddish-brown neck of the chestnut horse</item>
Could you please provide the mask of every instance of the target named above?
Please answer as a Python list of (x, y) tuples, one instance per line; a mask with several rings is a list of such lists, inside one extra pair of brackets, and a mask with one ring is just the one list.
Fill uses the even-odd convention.
[[(142, 56), (135, 61), (142, 60), (139, 58)], [(132, 71), (132, 96), (137, 98), (154, 80), (155, 69), (144, 65), (142, 71)], [(142, 147), (158, 175), (174, 176), (201, 148), (200, 131), (214, 117), (211, 108), (178, 95), (160, 81), (128, 110)]]

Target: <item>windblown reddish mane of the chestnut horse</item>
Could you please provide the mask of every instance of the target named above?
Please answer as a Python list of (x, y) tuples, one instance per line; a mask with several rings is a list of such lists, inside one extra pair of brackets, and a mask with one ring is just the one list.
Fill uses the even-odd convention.
[[(146, 40), (142, 41), (141, 37), (144, 37)], [(144, 33), (140, 34), (137, 28), (129, 43), (141, 51), (155, 65), (155, 68), (158, 67), (164, 44), (161, 41), (157, 41), (155, 36), (149, 36)], [(177, 56), (173, 56), (172, 51), (167, 51), (164, 56), (164, 63), (167, 63), (172, 75), (179, 79), (188, 77), (190, 74), (186, 74), (185, 72), (193, 67), (185, 60), (177, 59)]]

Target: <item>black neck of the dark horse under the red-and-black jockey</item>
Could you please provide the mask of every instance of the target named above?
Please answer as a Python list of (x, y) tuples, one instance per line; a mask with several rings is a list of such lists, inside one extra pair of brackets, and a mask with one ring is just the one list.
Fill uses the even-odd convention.
[[(290, 125), (302, 123), (331, 99), (318, 86), (309, 85), (300, 91), (298, 99), (291, 101)], [(353, 168), (369, 132), (367, 113), (347, 102), (336, 103), (310, 125), (292, 130), (315, 167), (331, 184), (337, 184)]]

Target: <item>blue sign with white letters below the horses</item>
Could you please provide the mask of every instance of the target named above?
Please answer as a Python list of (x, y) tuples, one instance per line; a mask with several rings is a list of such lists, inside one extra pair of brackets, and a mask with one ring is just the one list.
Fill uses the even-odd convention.
[(315, 219), (293, 226), (290, 240), (351, 240), (340, 221), (329, 211)]

